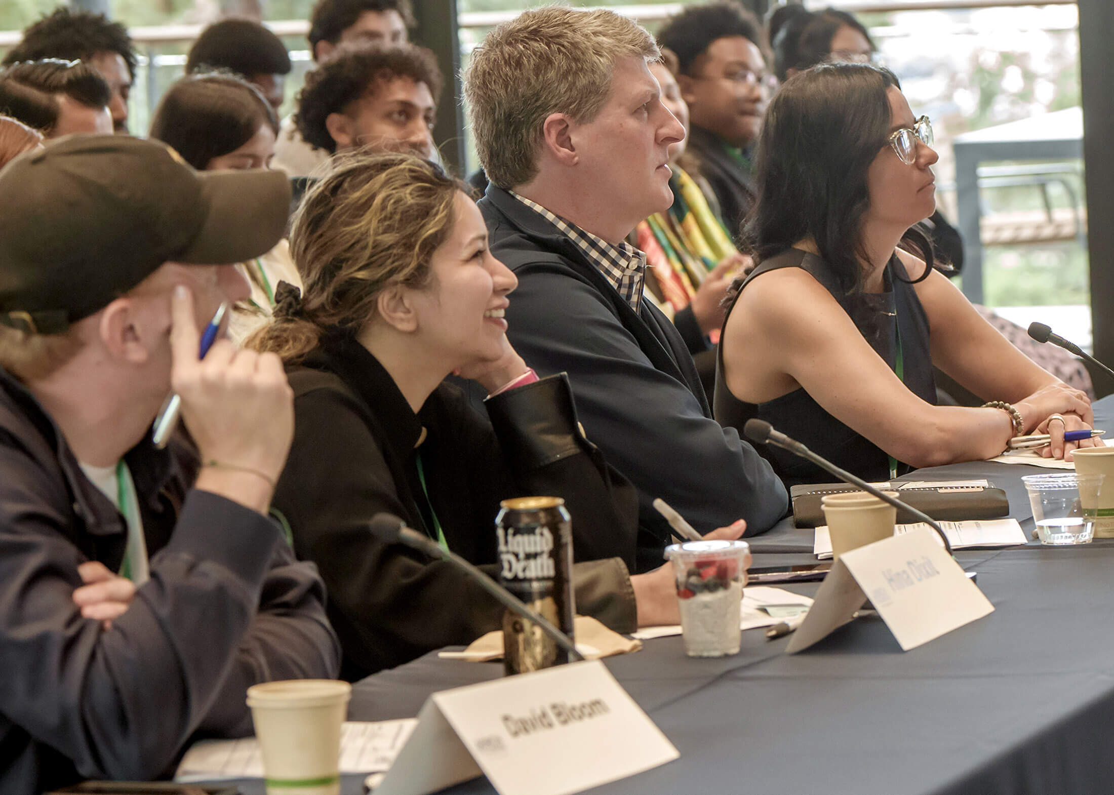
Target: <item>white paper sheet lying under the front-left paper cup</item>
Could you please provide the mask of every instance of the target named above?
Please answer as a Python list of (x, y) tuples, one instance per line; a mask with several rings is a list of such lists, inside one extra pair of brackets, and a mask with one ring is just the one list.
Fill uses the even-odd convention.
[[(385, 771), (418, 725), (417, 718), (345, 723), (341, 729), (341, 773)], [(262, 778), (263, 758), (255, 737), (203, 739), (178, 765), (176, 782)]]

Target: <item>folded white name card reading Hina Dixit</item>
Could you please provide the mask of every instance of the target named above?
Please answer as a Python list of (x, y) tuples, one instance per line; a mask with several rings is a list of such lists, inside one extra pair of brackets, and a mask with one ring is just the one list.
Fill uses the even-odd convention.
[(795, 654), (825, 638), (867, 599), (903, 651), (994, 611), (936, 533), (920, 528), (840, 556), (785, 651)]

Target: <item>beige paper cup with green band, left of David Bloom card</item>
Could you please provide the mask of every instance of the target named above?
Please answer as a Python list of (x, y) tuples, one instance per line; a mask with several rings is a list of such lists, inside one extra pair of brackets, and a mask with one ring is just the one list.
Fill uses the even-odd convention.
[(267, 795), (340, 794), (341, 725), (351, 693), (346, 681), (332, 679), (247, 688)]

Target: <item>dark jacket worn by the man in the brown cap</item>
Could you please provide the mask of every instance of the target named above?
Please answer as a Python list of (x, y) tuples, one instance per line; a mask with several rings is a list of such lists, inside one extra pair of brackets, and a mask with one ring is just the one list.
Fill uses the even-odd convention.
[(150, 580), (105, 631), (74, 605), (77, 567), (116, 571), (124, 518), (38, 401), (0, 372), (0, 792), (153, 778), (194, 733), (251, 734), (250, 685), (332, 677), (340, 651), (312, 566), (278, 527), (189, 490), (173, 442), (126, 455)]

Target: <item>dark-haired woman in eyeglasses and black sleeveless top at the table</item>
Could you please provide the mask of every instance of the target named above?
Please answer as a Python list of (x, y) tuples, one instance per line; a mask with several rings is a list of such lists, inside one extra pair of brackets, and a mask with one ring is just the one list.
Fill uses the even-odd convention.
[[(745, 229), (758, 266), (729, 294), (721, 338), (720, 422), (761, 418), (874, 481), (993, 458), (1026, 433), (1052, 435), (1046, 455), (1074, 449), (1063, 435), (1089, 426), (1086, 396), (932, 269), (915, 227), (936, 206), (931, 143), (887, 69), (819, 66), (774, 97)], [(934, 364), (993, 404), (935, 405)], [(764, 454), (790, 484), (831, 480)]]

